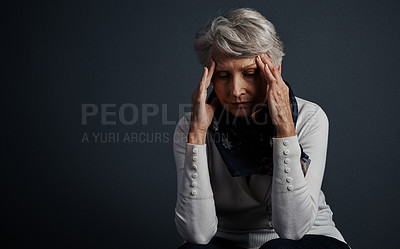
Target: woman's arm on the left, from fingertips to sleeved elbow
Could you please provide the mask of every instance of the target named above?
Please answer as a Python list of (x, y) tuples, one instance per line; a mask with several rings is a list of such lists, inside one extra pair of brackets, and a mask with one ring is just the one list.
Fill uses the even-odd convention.
[(195, 244), (207, 244), (217, 231), (213, 192), (208, 172), (205, 139), (218, 99), (206, 104), (207, 88), (215, 69), (204, 68), (198, 88), (192, 94), (191, 115), (185, 115), (174, 133), (177, 170), (175, 223), (181, 236)]

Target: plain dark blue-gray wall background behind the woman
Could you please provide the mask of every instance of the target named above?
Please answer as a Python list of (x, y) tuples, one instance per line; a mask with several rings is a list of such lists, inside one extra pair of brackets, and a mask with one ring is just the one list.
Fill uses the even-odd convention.
[[(167, 104), (199, 82), (192, 41), (253, 7), (275, 24), (283, 76), (330, 120), (323, 190), (353, 248), (398, 248), (397, 1), (6, 1), (0, 243), (7, 248), (176, 248), (174, 125), (81, 123), (82, 104)], [(141, 113), (140, 113), (141, 114)], [(128, 118), (128, 116), (127, 116)], [(82, 143), (84, 132), (169, 141)], [(397, 244), (397, 245), (396, 245)], [(3, 247), (5, 248), (5, 247)]]

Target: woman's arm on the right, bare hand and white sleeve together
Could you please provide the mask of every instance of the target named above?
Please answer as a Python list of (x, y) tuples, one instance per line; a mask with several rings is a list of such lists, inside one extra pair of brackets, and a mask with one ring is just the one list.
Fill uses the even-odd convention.
[[(275, 67), (266, 54), (257, 56), (256, 61), (267, 84), (269, 113), (277, 130), (273, 138), (272, 223), (281, 238), (298, 240), (310, 230), (317, 217), (328, 144), (328, 119), (319, 106), (309, 104), (307, 115), (303, 115), (307, 120), (301, 120), (302, 127), (296, 134), (289, 89), (282, 79), (281, 66)], [(299, 144), (312, 160), (306, 176), (300, 164)]]

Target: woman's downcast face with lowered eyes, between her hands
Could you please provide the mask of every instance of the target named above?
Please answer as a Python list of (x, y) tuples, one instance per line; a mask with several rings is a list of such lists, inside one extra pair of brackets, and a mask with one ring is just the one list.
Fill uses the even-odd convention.
[(234, 59), (217, 54), (213, 59), (216, 68), (211, 82), (226, 110), (237, 117), (247, 117), (264, 106), (268, 86), (255, 57)]

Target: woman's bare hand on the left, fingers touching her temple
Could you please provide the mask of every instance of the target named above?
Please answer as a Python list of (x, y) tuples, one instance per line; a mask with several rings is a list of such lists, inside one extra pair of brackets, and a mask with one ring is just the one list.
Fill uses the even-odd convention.
[(205, 144), (207, 129), (219, 103), (218, 98), (213, 99), (210, 104), (206, 103), (207, 89), (211, 83), (214, 69), (215, 62), (212, 60), (210, 69), (204, 67), (200, 84), (192, 94), (192, 115), (188, 134), (188, 143), (190, 144)]

